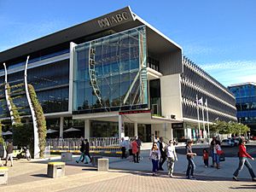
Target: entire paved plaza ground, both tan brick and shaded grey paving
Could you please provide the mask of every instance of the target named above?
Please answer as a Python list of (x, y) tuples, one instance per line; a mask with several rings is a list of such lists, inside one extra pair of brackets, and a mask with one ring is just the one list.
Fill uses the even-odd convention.
[[(9, 183), (1, 185), (1, 192), (12, 191), (256, 191), (256, 183), (251, 181), (247, 168), (241, 172), (240, 181), (231, 179), (238, 166), (237, 158), (226, 158), (221, 169), (205, 168), (201, 157), (195, 158), (196, 180), (184, 177), (186, 158), (178, 154), (173, 178), (167, 177), (166, 171), (159, 176), (151, 174), (151, 163), (148, 160), (148, 150), (142, 152), (143, 160), (136, 164), (128, 159), (105, 157), (109, 159), (109, 172), (97, 172), (96, 167), (77, 164), (79, 157), (73, 155), (73, 161), (68, 161), (66, 176), (61, 178), (47, 177), (49, 160), (15, 160), (15, 166), (9, 167)], [(60, 160), (60, 156), (51, 161)], [(256, 162), (250, 161), (256, 172)], [(166, 169), (166, 165), (164, 166)]]

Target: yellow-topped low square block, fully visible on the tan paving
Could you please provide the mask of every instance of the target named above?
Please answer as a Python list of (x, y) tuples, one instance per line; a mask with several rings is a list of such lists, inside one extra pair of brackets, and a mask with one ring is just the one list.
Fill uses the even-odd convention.
[(65, 163), (64, 162), (49, 162), (47, 167), (48, 177), (64, 177), (65, 176)]

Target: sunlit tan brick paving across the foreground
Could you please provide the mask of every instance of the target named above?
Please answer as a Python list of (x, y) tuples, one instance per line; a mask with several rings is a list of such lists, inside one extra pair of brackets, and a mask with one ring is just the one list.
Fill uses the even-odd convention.
[(250, 191), (256, 192), (256, 183), (250, 180), (234, 182), (230, 178), (198, 177), (188, 180), (183, 175), (173, 178), (166, 174), (158, 177), (149, 172), (125, 172), (111, 170), (96, 172), (89, 166), (66, 166), (66, 177), (46, 177), (46, 162), (15, 161), (14, 167), (9, 167), (9, 184), (1, 185), (1, 192), (13, 191), (93, 191), (93, 192), (137, 192), (137, 191)]

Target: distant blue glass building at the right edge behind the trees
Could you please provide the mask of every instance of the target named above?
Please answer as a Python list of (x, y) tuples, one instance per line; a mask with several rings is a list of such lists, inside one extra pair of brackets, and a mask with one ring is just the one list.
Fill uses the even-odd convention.
[(236, 96), (237, 120), (248, 125), (256, 136), (256, 84), (232, 84), (229, 90)]

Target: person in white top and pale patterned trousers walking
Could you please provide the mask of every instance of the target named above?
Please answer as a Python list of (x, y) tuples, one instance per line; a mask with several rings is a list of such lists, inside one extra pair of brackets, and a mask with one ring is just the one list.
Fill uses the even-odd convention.
[(177, 154), (176, 154), (175, 146), (172, 140), (170, 140), (169, 144), (167, 145), (166, 154), (167, 154), (168, 175), (169, 177), (173, 177), (174, 162), (177, 161)]

